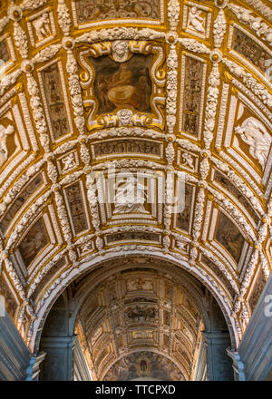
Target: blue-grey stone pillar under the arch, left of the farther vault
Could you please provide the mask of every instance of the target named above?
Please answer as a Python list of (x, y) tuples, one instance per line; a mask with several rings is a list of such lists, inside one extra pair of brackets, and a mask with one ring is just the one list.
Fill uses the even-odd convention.
[(41, 349), (46, 353), (41, 367), (43, 381), (73, 381), (73, 347), (76, 336), (43, 336)]

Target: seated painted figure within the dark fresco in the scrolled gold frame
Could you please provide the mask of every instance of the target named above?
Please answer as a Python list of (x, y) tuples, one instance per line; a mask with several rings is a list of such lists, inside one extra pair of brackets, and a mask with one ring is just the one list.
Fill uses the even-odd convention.
[(108, 98), (117, 107), (121, 105), (139, 107), (137, 90), (132, 82), (133, 74), (129, 70), (128, 64), (121, 63), (119, 70), (112, 76), (112, 87), (108, 92)]

